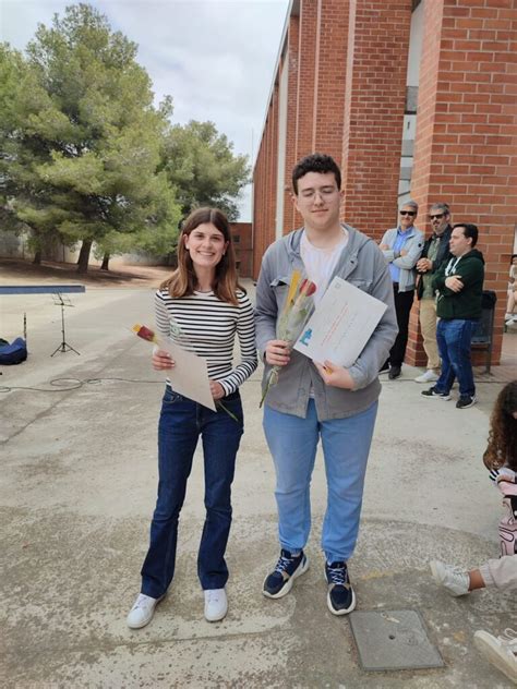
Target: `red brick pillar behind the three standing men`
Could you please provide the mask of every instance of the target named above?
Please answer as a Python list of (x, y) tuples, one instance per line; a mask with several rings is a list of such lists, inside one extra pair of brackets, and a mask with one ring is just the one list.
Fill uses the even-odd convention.
[[(420, 228), (445, 201), (454, 222), (480, 229), (485, 288), (498, 297), (495, 362), (517, 218), (516, 28), (513, 0), (426, 0), (411, 181)], [(413, 311), (407, 359), (423, 363)]]

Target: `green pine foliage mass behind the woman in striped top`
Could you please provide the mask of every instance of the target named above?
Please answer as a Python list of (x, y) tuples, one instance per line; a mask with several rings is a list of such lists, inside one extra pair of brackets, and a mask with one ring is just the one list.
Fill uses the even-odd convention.
[(32, 230), (38, 251), (81, 243), (98, 255), (169, 254), (200, 205), (238, 216), (245, 156), (212, 122), (171, 124), (153, 106), (136, 45), (88, 4), (40, 24), (25, 56), (0, 44), (2, 226)]

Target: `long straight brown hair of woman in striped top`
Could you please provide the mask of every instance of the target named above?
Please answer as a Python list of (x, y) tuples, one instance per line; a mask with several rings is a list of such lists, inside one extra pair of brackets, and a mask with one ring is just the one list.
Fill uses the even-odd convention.
[(170, 278), (161, 282), (159, 288), (168, 290), (172, 299), (189, 297), (194, 293), (197, 278), (190, 253), (185, 247), (184, 238), (204, 222), (212, 222), (228, 242), (225, 254), (216, 266), (212, 289), (215, 295), (229, 304), (238, 305), (237, 290), (245, 292), (237, 281), (236, 253), (231, 241), (230, 225), (228, 218), (218, 208), (197, 208), (193, 210), (183, 222), (178, 240), (178, 268)]

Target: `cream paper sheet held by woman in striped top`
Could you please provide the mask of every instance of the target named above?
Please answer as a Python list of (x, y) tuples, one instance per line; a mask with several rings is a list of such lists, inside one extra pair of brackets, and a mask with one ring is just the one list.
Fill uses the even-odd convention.
[(206, 359), (187, 351), (170, 339), (160, 339), (157, 348), (169, 352), (176, 362), (173, 368), (167, 370), (167, 377), (175, 392), (216, 411), (211, 392)]

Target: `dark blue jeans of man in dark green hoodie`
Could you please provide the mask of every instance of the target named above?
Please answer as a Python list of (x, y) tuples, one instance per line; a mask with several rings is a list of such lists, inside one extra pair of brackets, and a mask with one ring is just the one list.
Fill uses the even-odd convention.
[(440, 318), (436, 325), (436, 342), (442, 360), (442, 375), (435, 384), (438, 392), (448, 395), (454, 379), (458, 378), (460, 397), (476, 395), (470, 344), (477, 325), (478, 321), (472, 318)]

